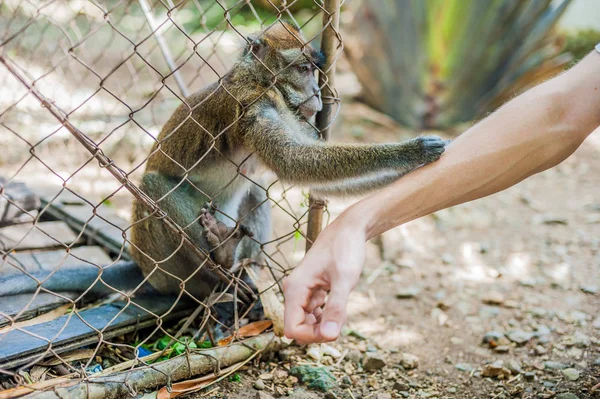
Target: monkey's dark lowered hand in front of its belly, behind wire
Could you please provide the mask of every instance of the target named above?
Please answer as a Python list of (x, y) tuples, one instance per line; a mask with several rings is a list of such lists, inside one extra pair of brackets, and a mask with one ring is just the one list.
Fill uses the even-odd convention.
[(202, 235), (210, 247), (215, 262), (230, 269), (235, 258), (235, 249), (245, 236), (252, 237), (252, 232), (243, 225), (228, 228), (205, 210), (200, 215), (200, 224), (204, 227)]

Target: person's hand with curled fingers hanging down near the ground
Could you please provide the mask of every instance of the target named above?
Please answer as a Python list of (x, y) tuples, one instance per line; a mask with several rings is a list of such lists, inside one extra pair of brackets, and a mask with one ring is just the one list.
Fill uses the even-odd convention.
[(338, 338), (365, 262), (365, 239), (364, 230), (348, 218), (321, 232), (283, 282), (286, 337), (304, 344)]

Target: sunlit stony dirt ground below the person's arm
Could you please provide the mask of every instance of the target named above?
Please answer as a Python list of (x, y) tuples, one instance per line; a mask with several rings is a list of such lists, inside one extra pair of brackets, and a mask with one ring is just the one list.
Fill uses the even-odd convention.
[[(600, 131), (555, 169), (384, 234), (346, 336), (190, 397), (600, 398), (599, 151)], [(306, 391), (288, 377), (299, 364), (328, 366), (337, 388)]]

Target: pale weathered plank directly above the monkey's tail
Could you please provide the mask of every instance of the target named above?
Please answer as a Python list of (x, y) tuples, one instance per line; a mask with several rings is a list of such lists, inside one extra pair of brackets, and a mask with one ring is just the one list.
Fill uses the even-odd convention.
[(8, 254), (5, 260), (0, 260), (0, 276), (11, 273), (22, 273), (14, 266), (22, 267), (28, 272), (40, 270), (54, 271), (64, 268), (91, 265), (108, 265), (112, 262), (110, 256), (100, 246), (83, 246), (55, 251), (16, 252)]

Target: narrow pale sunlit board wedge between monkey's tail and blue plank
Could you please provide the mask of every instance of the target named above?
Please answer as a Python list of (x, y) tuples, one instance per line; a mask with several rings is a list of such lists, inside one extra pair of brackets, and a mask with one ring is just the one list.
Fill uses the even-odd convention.
[[(69, 302), (65, 298), (47, 292), (39, 292), (34, 298), (31, 295), (11, 295), (4, 298), (5, 300), (0, 299), (0, 327), (8, 325), (11, 319), (14, 321), (28, 320)], [(76, 299), (81, 296), (81, 293), (61, 292), (60, 295)]]

